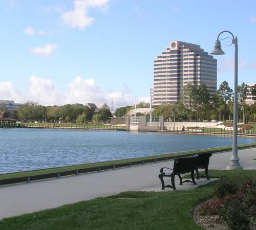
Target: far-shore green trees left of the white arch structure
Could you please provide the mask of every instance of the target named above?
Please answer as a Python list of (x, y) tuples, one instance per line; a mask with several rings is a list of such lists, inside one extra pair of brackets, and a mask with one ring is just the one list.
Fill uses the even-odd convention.
[[(3, 105), (0, 110), (7, 111)], [(28, 101), (17, 110), (10, 112), (13, 118), (24, 122), (106, 123), (112, 117), (109, 109), (100, 109), (96, 112), (94, 108), (88, 106), (78, 106), (76, 104), (42, 106), (33, 101)]]

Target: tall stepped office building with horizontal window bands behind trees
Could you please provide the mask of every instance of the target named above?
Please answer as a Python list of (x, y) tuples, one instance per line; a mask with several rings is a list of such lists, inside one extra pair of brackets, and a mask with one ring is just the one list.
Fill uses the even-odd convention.
[(175, 104), (187, 84), (205, 84), (210, 96), (217, 90), (217, 59), (200, 45), (170, 41), (154, 60), (154, 105)]

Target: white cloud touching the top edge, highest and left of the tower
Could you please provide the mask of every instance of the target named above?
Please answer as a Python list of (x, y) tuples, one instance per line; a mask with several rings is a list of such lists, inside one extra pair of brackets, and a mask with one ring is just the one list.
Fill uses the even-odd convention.
[(72, 28), (84, 29), (92, 24), (94, 18), (88, 16), (88, 9), (98, 7), (105, 10), (109, 0), (75, 0), (74, 10), (65, 12), (61, 15), (64, 24)]

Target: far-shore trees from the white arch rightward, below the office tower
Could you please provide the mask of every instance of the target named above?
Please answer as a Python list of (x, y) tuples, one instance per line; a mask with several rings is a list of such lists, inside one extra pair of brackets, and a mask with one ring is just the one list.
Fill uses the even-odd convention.
[[(238, 115), (240, 122), (256, 121), (256, 104), (247, 105), (247, 85), (243, 82), (238, 86)], [(252, 87), (253, 100), (256, 100), (256, 84)], [(143, 106), (143, 103), (137, 105)], [(115, 116), (123, 117), (134, 106), (120, 107)], [(233, 90), (227, 81), (223, 81), (214, 97), (210, 97), (205, 84), (188, 84), (183, 88), (183, 94), (177, 104), (162, 104), (154, 106), (154, 117), (163, 116), (165, 121), (226, 121), (233, 120)]]

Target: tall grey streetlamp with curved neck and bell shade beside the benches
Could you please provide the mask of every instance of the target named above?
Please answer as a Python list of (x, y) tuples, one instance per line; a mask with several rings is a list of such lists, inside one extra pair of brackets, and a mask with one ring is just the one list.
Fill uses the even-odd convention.
[[(229, 31), (222, 31), (219, 33), (217, 40), (215, 41), (214, 50), (210, 53), (212, 55), (222, 55), (225, 54), (221, 50), (221, 42), (219, 37), (222, 33), (229, 33), (232, 35), (232, 43), (234, 44), (234, 110), (233, 110), (233, 154), (229, 160), (229, 166), (227, 170), (232, 169), (243, 169), (239, 163), (238, 157), (238, 38)], [(225, 38), (224, 38), (225, 39)]]

